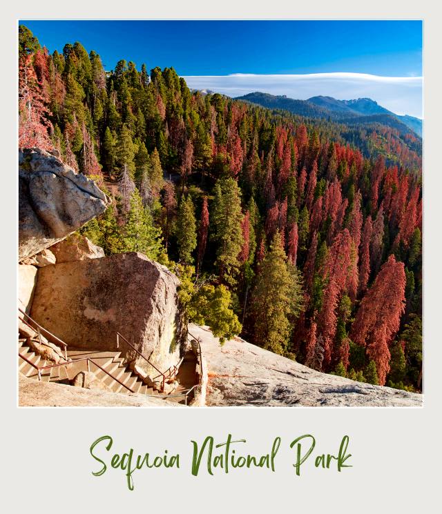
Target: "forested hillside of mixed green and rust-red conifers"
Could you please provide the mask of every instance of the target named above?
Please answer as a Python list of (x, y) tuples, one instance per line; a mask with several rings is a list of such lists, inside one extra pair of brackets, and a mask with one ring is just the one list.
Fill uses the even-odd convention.
[(419, 139), (192, 94), (173, 68), (108, 72), (22, 26), (19, 145), (97, 180), (113, 204), (83, 232), (173, 269), (193, 322), (421, 390)]

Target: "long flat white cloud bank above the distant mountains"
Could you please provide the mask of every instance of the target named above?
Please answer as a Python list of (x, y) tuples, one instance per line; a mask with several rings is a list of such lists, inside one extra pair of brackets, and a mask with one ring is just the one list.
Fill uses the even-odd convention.
[(422, 77), (380, 77), (365, 73), (309, 75), (207, 75), (184, 77), (189, 88), (209, 89), (229, 97), (260, 91), (306, 100), (318, 95), (338, 100), (371, 98), (398, 115), (422, 117)]

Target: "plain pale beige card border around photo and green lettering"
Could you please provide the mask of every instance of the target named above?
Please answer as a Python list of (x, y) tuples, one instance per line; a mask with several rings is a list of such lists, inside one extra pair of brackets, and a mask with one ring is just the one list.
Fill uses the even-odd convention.
[[(440, 292), (441, 72), (440, 12), (435, 2), (271, 1), (267, 11), (253, 1), (118, 3), (61, 1), (3, 4), (1, 20), (1, 484), (7, 512), (48, 513), (433, 513), (440, 506), (441, 445)], [(410, 7), (412, 6), (412, 7)], [(315, 10), (312, 10), (312, 9)], [(15, 248), (17, 240), (17, 18), (412, 18), (425, 20), (425, 406), (423, 408), (204, 408), (204, 409), (18, 409), (15, 384)], [(164, 37), (167, 37), (164, 34)], [(74, 41), (75, 34), (66, 34)], [(159, 41), (161, 44), (161, 41)], [(351, 41), (349, 41), (351, 44)], [(306, 41), (308, 49), (308, 41)], [(148, 48), (146, 48), (148, 56)], [(128, 56), (130, 57), (130, 56)], [(154, 63), (153, 63), (154, 65)], [(190, 439), (231, 432), (247, 439), (250, 453), (267, 451), (282, 437), (276, 473), (233, 470), (215, 477), (190, 473)], [(296, 477), (291, 439), (312, 433), (318, 451), (337, 451), (350, 437), (353, 468), (342, 473), (315, 469), (312, 461)], [(180, 470), (138, 471), (135, 491), (121, 471), (93, 477), (96, 462), (88, 448), (99, 436), (114, 438), (115, 450), (182, 455)], [(437, 487), (437, 488), (436, 488)], [(6, 505), (8, 504), (8, 506)]]

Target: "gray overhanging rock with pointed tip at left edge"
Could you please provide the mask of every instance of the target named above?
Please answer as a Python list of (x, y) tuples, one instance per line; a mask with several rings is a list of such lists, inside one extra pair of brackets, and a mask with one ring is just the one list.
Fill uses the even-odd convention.
[(50, 153), (19, 152), (19, 261), (61, 241), (108, 205), (93, 180)]

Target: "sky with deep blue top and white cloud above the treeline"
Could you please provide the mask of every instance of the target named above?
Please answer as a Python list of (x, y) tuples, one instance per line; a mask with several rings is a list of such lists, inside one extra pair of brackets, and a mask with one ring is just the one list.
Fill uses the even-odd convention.
[(412, 78), (422, 76), (421, 21), (21, 23), (50, 52), (80, 41), (99, 53), (106, 70), (119, 59), (148, 69), (173, 66), (190, 87), (231, 96), (264, 90), (299, 99), (371, 97), (398, 114), (421, 117), (422, 81)]

